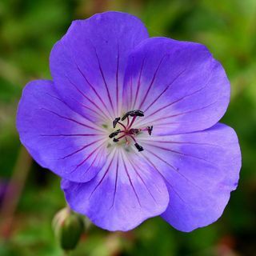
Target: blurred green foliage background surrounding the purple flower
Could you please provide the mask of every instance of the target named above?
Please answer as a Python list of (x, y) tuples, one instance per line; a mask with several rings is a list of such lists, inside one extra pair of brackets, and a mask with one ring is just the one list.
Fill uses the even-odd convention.
[(238, 133), (242, 172), (222, 218), (211, 226), (188, 234), (161, 218), (128, 233), (91, 226), (70, 255), (256, 255), (255, 0), (1, 0), (0, 255), (63, 254), (51, 230), (54, 214), (65, 206), (59, 179), (20, 145), (16, 108), (26, 82), (50, 78), (51, 47), (70, 22), (105, 10), (137, 15), (151, 36), (201, 42), (222, 62), (232, 85), (222, 122)]

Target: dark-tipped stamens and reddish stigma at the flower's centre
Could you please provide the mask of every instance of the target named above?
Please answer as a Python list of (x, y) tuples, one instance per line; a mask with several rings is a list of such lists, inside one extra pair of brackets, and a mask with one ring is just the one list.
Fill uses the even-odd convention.
[[(136, 118), (144, 117), (144, 113), (142, 110), (130, 110), (126, 112), (121, 117), (114, 118), (113, 127), (115, 128), (117, 125), (122, 126), (122, 130), (115, 130), (113, 133), (109, 135), (109, 138), (113, 138), (113, 142), (119, 142), (120, 140), (126, 140), (126, 144), (130, 143), (130, 139), (134, 141), (134, 146), (136, 149), (141, 152), (143, 151), (143, 147), (140, 146), (136, 140), (136, 136), (141, 132), (147, 132), (149, 135), (152, 134), (153, 126), (146, 126), (142, 128), (133, 128), (134, 122)], [(132, 118), (130, 120), (130, 118)], [(120, 121), (121, 120), (121, 121)], [(125, 123), (123, 123), (126, 121)], [(130, 138), (130, 139), (129, 139)]]

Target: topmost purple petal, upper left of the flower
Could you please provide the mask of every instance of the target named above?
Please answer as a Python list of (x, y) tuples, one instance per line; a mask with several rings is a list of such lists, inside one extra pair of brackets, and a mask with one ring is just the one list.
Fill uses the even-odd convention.
[(81, 114), (113, 120), (120, 115), (128, 55), (145, 38), (145, 26), (130, 14), (106, 12), (72, 22), (50, 54), (58, 93)]

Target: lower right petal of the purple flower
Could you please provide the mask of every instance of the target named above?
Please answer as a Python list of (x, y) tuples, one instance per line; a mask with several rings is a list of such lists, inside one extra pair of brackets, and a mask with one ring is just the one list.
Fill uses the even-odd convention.
[(170, 204), (162, 218), (191, 231), (215, 222), (238, 184), (241, 153), (229, 126), (154, 137), (140, 142), (145, 156), (166, 178)]

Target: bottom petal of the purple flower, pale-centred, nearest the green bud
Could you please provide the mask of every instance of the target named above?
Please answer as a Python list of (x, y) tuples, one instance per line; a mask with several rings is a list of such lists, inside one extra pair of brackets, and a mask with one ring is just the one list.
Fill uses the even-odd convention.
[(162, 176), (124, 150), (114, 150), (90, 182), (64, 180), (62, 189), (71, 209), (106, 230), (133, 229), (146, 218), (162, 214), (169, 202)]

